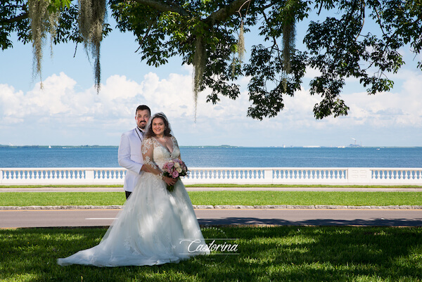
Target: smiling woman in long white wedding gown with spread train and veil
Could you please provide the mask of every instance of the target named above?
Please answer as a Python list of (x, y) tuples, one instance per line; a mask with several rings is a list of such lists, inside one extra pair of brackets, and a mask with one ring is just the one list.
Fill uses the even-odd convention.
[[(156, 265), (179, 262), (210, 253), (184, 184), (163, 177), (165, 162), (180, 159), (177, 141), (163, 113), (153, 115), (142, 142), (143, 173), (134, 192), (101, 242), (58, 264), (88, 264), (97, 267)], [(167, 184), (174, 184), (172, 192)]]

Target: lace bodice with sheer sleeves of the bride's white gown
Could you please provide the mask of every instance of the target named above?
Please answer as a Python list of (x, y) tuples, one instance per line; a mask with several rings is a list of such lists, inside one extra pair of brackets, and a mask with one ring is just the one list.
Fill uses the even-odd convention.
[(162, 169), (169, 160), (180, 158), (180, 149), (174, 136), (170, 137), (173, 143), (173, 151), (162, 146), (155, 137), (146, 138), (142, 141), (143, 163), (155, 169)]

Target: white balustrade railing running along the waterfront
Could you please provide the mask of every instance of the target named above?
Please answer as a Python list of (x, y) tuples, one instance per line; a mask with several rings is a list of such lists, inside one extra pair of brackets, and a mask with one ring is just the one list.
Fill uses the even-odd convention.
[[(122, 185), (121, 167), (0, 168), (0, 185)], [(184, 184), (422, 185), (422, 168), (192, 167)]]

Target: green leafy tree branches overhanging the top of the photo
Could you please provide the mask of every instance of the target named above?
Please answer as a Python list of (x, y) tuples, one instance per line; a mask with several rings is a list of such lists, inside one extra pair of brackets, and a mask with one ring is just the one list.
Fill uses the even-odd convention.
[[(82, 41), (74, 2), (51, 0), (51, 11), (60, 9), (55, 44)], [(27, 1), (2, 3), (1, 48), (13, 46), (11, 32), (29, 41)], [(194, 92), (210, 89), (208, 102), (236, 99), (237, 79), (250, 77), (248, 115), (258, 120), (278, 115), (283, 98), (294, 96), (310, 68), (318, 72), (310, 93), (321, 97), (314, 105), (316, 119), (347, 115), (341, 98), (345, 79), (357, 79), (368, 94), (390, 91), (394, 82), (388, 76), (405, 63), (399, 49), (422, 50), (421, 0), (110, 0), (108, 5), (117, 29), (134, 34), (148, 65), (164, 65), (173, 56), (194, 65)], [(311, 16), (305, 36), (296, 38), (296, 27)], [(368, 23), (374, 23), (370, 31)], [(108, 32), (104, 25), (103, 36)], [(245, 50), (249, 61), (243, 62), (236, 52), (251, 32), (260, 40)]]

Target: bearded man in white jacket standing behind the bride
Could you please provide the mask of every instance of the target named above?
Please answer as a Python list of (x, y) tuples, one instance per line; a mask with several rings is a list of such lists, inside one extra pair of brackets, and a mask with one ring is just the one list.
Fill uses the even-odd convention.
[(151, 110), (147, 105), (139, 105), (136, 108), (136, 125), (129, 132), (124, 132), (120, 138), (119, 145), (119, 165), (126, 168), (126, 176), (124, 177), (124, 192), (126, 199), (134, 190), (134, 186), (143, 172), (148, 172), (148, 169), (143, 165), (143, 158), (141, 153), (141, 143), (143, 140), (143, 131), (146, 129), (146, 124), (151, 117)]

